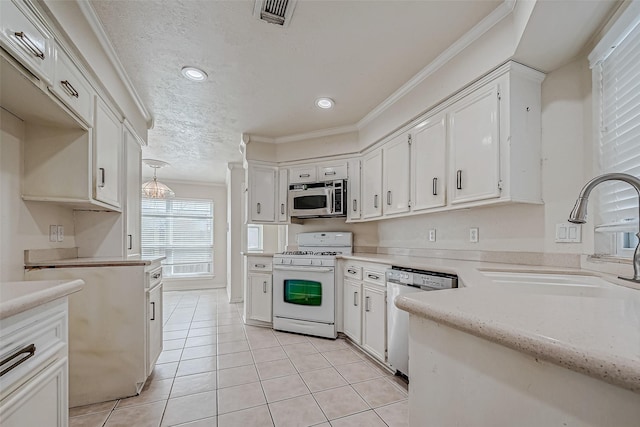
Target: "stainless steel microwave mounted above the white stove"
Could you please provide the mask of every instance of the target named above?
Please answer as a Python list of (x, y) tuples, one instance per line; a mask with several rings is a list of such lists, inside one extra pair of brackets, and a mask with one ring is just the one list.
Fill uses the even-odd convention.
[(347, 215), (347, 181), (336, 180), (289, 186), (292, 218), (327, 218)]

